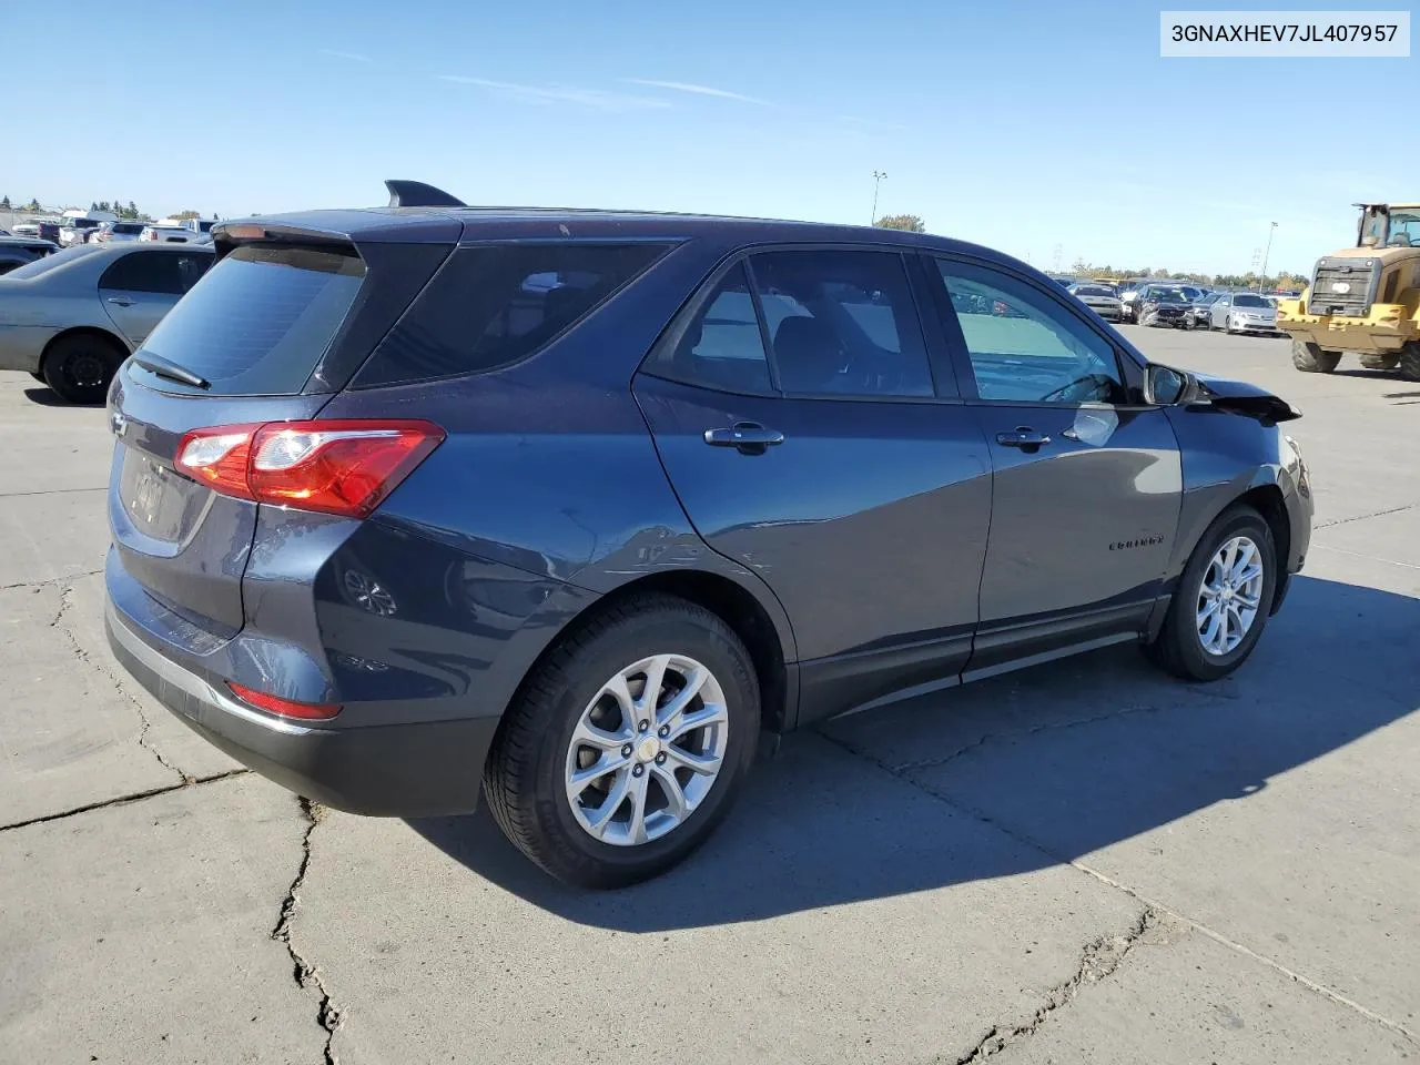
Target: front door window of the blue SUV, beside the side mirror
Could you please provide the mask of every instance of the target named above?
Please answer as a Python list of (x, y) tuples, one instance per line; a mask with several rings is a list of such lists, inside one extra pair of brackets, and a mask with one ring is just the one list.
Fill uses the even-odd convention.
[(1027, 403), (1118, 402), (1123, 382), (1105, 338), (1034, 287), (937, 260), (977, 395)]

